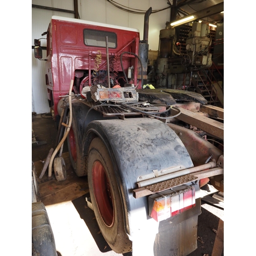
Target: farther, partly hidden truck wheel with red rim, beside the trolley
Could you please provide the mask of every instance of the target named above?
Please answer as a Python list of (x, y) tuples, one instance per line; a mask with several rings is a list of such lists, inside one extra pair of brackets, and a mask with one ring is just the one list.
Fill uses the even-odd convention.
[(78, 140), (78, 129), (75, 120), (73, 119), (72, 125), (68, 135), (68, 148), (69, 156), (72, 167), (77, 176), (87, 175), (86, 171), (86, 158), (83, 157), (80, 153), (80, 143)]

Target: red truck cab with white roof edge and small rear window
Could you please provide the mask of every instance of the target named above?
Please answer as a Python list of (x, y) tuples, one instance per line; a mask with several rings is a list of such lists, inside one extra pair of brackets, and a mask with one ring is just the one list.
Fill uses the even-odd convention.
[[(84, 86), (102, 84), (107, 87), (106, 41), (108, 37), (111, 87), (124, 86), (125, 72), (138, 69), (139, 52), (137, 29), (110, 26), (86, 20), (53, 16), (47, 31), (46, 84), (50, 106), (57, 115), (59, 96), (67, 95), (70, 81), (74, 93), (81, 94)], [(123, 56), (120, 65), (120, 55)], [(100, 70), (100, 71), (99, 71)], [(129, 83), (138, 85), (139, 77), (133, 72)]]

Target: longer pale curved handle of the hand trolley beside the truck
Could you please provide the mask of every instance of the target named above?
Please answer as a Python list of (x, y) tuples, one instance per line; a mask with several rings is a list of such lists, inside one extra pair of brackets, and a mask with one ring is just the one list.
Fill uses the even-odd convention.
[(53, 154), (51, 156), (50, 163), (49, 163), (48, 177), (52, 176), (53, 160), (54, 160), (56, 154), (58, 153), (59, 149), (61, 148), (62, 144), (64, 143), (64, 141), (68, 137), (68, 134), (69, 134), (69, 131), (70, 131), (70, 128), (71, 128), (71, 124), (72, 124), (72, 96), (71, 96), (71, 93), (72, 93), (73, 84), (74, 84), (74, 80), (72, 79), (71, 82), (70, 82), (70, 89), (69, 89), (69, 109), (70, 109), (69, 110), (69, 113), (70, 113), (69, 114), (69, 124), (68, 124), (66, 133), (63, 135), (63, 138), (61, 139), (61, 141), (59, 142), (59, 144), (57, 145), (57, 147), (55, 148), (55, 151), (53, 152)]

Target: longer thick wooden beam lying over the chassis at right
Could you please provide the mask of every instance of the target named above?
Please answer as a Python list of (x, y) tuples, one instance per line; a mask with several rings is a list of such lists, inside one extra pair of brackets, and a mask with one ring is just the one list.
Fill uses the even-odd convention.
[(191, 124), (193, 126), (196, 126), (202, 131), (209, 133), (217, 138), (224, 139), (223, 123), (218, 122), (216, 120), (212, 120), (205, 116), (198, 115), (197, 113), (193, 113), (191, 111), (188, 111), (182, 108), (177, 108), (177, 109), (171, 110), (172, 115), (177, 115), (179, 111), (181, 112), (181, 114), (176, 117), (177, 119), (183, 122), (186, 122), (188, 124)]

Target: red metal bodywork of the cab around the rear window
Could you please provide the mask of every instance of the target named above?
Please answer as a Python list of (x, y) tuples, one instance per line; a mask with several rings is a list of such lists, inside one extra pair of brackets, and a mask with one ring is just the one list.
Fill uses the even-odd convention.
[[(60, 95), (69, 92), (75, 71), (94, 69), (94, 60), (101, 52), (101, 63), (106, 59), (105, 36), (108, 36), (109, 55), (120, 56), (122, 52), (138, 55), (139, 31), (137, 29), (110, 26), (86, 20), (53, 16), (47, 34), (47, 87), (53, 91), (54, 112)], [(123, 68), (137, 68), (136, 58), (123, 57)], [(102, 67), (106, 70), (106, 65)], [(119, 65), (119, 71), (122, 71)], [(79, 72), (78, 72), (79, 74)], [(50, 96), (49, 96), (50, 97)], [(50, 98), (49, 98), (50, 99)]]

